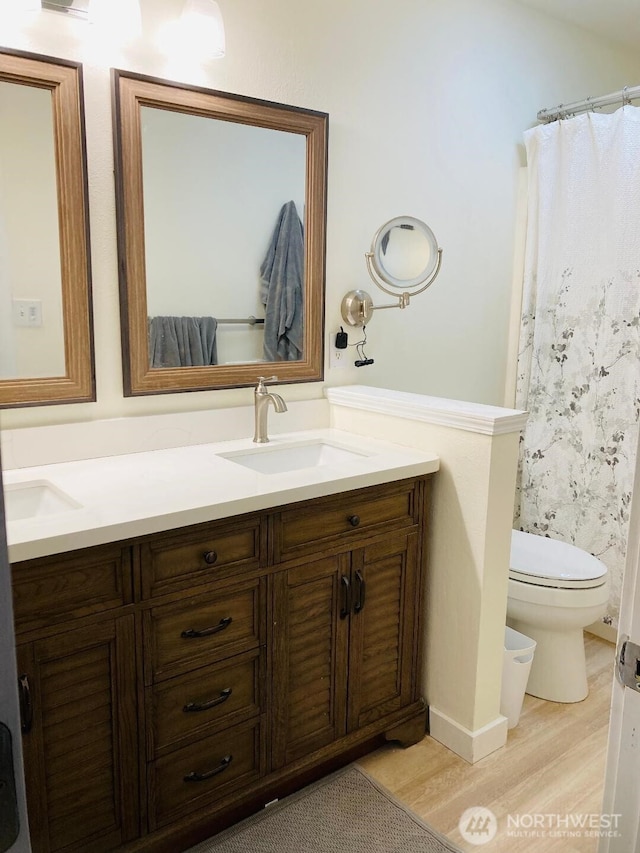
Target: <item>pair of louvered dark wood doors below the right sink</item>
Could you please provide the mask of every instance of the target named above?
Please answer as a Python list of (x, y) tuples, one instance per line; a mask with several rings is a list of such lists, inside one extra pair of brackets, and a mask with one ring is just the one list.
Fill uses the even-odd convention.
[(416, 701), (417, 532), (274, 577), (273, 766)]

